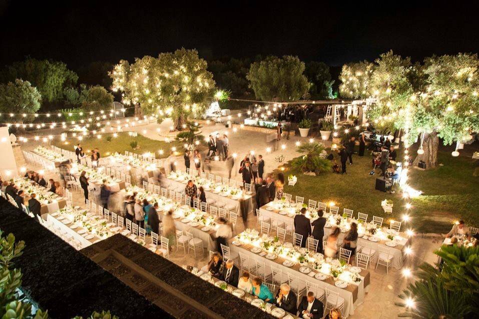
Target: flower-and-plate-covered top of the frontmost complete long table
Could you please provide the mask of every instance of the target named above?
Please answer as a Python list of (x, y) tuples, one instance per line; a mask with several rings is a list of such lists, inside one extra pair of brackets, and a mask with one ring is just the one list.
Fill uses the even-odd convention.
[(361, 280), (357, 274), (349, 271), (351, 267), (349, 264), (343, 264), (338, 259), (324, 257), (323, 254), (307, 250), (306, 248), (286, 246), (277, 240), (277, 238), (269, 237), (266, 234), (260, 236), (255, 229), (246, 229), (236, 236), (236, 240), (242, 244), (259, 247), (267, 253), (276, 254), (295, 263), (308, 265), (323, 274), (347, 282), (357, 282)]

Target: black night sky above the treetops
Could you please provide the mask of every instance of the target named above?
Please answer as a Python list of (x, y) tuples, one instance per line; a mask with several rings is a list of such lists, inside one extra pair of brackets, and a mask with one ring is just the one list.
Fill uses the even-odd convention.
[(472, 1), (63, 2), (0, 0), (0, 65), (30, 55), (76, 68), (182, 46), (208, 60), (293, 54), (330, 65), (388, 49), (414, 60), (479, 51), (477, 7), (459, 3)]

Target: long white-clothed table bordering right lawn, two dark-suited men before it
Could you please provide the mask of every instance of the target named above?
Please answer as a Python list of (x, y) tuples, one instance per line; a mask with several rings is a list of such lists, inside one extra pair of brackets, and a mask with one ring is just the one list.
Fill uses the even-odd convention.
[[(282, 208), (284, 206), (284, 208)], [(265, 218), (270, 218), (271, 220), (276, 220), (279, 223), (284, 222), (285, 226), (288, 225), (288, 229), (294, 231), (294, 216), (296, 212), (299, 211), (301, 204), (295, 205), (294, 203), (286, 203), (281, 200), (275, 200), (269, 202), (268, 204), (260, 207), (260, 213)], [(306, 212), (306, 217), (308, 217), (311, 222), (318, 218), (316, 211)], [(377, 261), (378, 255), (378, 246), (381, 245), (384, 248), (388, 248), (392, 255), (392, 267), (396, 269), (402, 268), (403, 265), (403, 250), (409, 245), (410, 238), (404, 232), (396, 232), (392, 229), (377, 228), (376, 225), (372, 222), (361, 223), (354, 218), (344, 218), (340, 214), (329, 214), (325, 213), (323, 217), (326, 217), (327, 222), (324, 227), (324, 236), (327, 237), (331, 234), (336, 226), (341, 228), (341, 233), (339, 234), (338, 242), (342, 242), (346, 236), (346, 232), (349, 229), (349, 224), (351, 222), (356, 222), (358, 224), (358, 234), (359, 238), (357, 240), (358, 250), (361, 248), (364, 243), (368, 242), (372, 245), (372, 249), (376, 250), (376, 254), (372, 256), (370, 262), (373, 264)], [(337, 221), (339, 220), (339, 225)], [(374, 229), (374, 230), (371, 230)], [(374, 235), (371, 235), (369, 231), (374, 231)], [(387, 237), (393, 236), (393, 240), (389, 240)]]

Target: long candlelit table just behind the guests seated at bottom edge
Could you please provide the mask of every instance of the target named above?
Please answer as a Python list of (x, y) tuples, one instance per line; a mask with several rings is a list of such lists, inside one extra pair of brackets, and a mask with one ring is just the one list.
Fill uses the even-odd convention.
[[(284, 276), (290, 273), (298, 277), (304, 283), (306, 283), (306, 281), (310, 281), (315, 284), (318, 284), (319, 287), (323, 290), (328, 288), (330, 290), (338, 292), (339, 296), (344, 299), (344, 309), (342, 311), (342, 314), (344, 317), (347, 317), (348, 315), (353, 314), (354, 308), (364, 301), (364, 294), (365, 292), (367, 292), (368, 285), (370, 283), (370, 273), (368, 270), (360, 269), (357, 267), (350, 267), (349, 265), (341, 266), (339, 263), (339, 260), (330, 259), (330, 258), (322, 259), (322, 261), (319, 261), (321, 262), (319, 264), (316, 263), (318, 267), (316, 269), (313, 266), (314, 263), (310, 262), (308, 264), (304, 262), (303, 264), (300, 264), (298, 260), (294, 259), (295, 258), (294, 256), (288, 256), (284, 252), (273, 254), (274, 256), (271, 257), (273, 259), (270, 259), (270, 257), (268, 257), (270, 253), (266, 253), (271, 251), (270, 248), (265, 248), (262, 245), (263, 244), (262, 242), (258, 244), (259, 239), (258, 240), (240, 239), (242, 235), (243, 233), (239, 234), (238, 236), (228, 241), (231, 251), (236, 253), (241, 252), (247, 255), (252, 260), (261, 260), (265, 262), (266, 268), (269, 268), (270, 266), (275, 266), (277, 268), (280, 268)], [(256, 251), (258, 252), (256, 253), (251, 251), (251, 249), (253, 248), (256, 248), (257, 249)], [(294, 249), (294, 248), (291, 247), (290, 249)], [(303, 249), (304, 251), (306, 251), (306, 254), (309, 253), (309, 255), (313, 255), (311, 252), (307, 252), (305, 248)], [(315, 256), (318, 256), (318, 255), (316, 254)], [(291, 260), (294, 260), (294, 261), (291, 261)], [(315, 260), (315, 259), (310, 259), (310, 260)], [(320, 260), (320, 258), (317, 260)], [(287, 266), (286, 262), (288, 261), (292, 265)], [(336, 280), (329, 273), (325, 274), (325, 272), (329, 272), (328, 270), (332, 269), (333, 266), (337, 267), (337, 269), (343, 269), (341, 270), (342, 272), (339, 274)], [(309, 268), (306, 270), (307, 271), (306, 273), (302, 271), (302, 269), (305, 269), (305, 268)], [(352, 272), (353, 268), (357, 272)], [(327, 270), (324, 270), (324, 269), (327, 269)], [(319, 279), (320, 276), (317, 275), (318, 273), (319, 275), (321, 275), (321, 279)], [(345, 283), (347, 285), (343, 288), (337, 286), (336, 283), (340, 280), (344, 280), (342, 283)]]

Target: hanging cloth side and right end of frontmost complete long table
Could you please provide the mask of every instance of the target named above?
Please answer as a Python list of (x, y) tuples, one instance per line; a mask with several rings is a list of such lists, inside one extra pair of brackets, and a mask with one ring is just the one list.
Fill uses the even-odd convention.
[[(232, 252), (236, 253), (243, 253), (247, 255), (252, 260), (260, 260), (265, 262), (265, 265), (268, 266), (275, 266), (282, 270), (283, 275), (287, 275), (287, 273), (291, 273), (295, 275), (300, 280), (306, 282), (311, 281), (315, 284), (318, 284), (320, 288), (325, 289), (328, 288), (330, 290), (336, 291), (339, 293), (339, 296), (344, 298), (344, 308), (343, 308), (343, 316), (347, 317), (350, 314), (354, 314), (354, 308), (361, 304), (364, 301), (364, 293), (368, 290), (368, 285), (370, 283), (370, 273), (368, 270), (362, 270), (359, 274), (363, 277), (363, 279), (359, 282), (359, 284), (352, 284), (349, 283), (346, 288), (339, 288), (334, 285), (334, 280), (332, 277), (328, 277), (325, 280), (319, 280), (314, 277), (314, 274), (311, 276), (308, 273), (302, 273), (299, 271), (300, 264), (296, 263), (292, 267), (287, 267), (283, 265), (283, 261), (285, 258), (281, 256), (277, 256), (276, 259), (270, 260), (259, 254), (252, 252), (250, 249), (253, 248), (251, 244), (243, 244), (241, 246), (237, 246), (232, 242), (236, 239), (236, 237), (231, 238), (228, 240), (228, 245)], [(312, 272), (316, 272), (312, 269)]]

